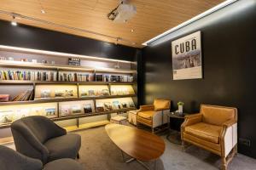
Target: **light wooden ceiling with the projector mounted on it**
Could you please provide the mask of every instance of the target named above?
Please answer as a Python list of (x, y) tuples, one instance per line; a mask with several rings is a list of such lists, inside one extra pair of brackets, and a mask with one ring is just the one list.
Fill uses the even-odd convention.
[[(136, 42), (136, 44), (122, 41), (119, 42), (120, 44), (142, 48), (142, 43), (148, 39), (222, 2), (224, 0), (131, 0), (131, 3), (137, 7), (137, 14), (128, 22), (121, 24), (113, 23), (106, 17), (118, 5), (119, 0), (0, 0), (0, 9), (40, 20), (48, 20), (56, 24), (96, 31), (112, 37), (122, 37)], [(41, 13), (42, 8), (45, 14)], [(0, 14), (0, 20), (12, 20), (12, 17), (7, 14)], [(25, 19), (17, 21), (29, 26), (106, 42), (116, 42), (113, 38), (49, 26), (37, 21)]]

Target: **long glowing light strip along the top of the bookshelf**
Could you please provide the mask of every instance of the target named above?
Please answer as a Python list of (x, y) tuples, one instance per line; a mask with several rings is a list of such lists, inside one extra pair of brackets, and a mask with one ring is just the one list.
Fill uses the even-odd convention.
[(5, 46), (5, 45), (0, 45), (0, 49), (14, 50), (14, 51), (19, 51), (19, 52), (33, 53), (33, 54), (48, 54), (48, 55), (61, 56), (61, 57), (74, 57), (74, 58), (76, 57), (76, 58), (82, 58), (82, 59), (96, 59), (96, 60), (102, 60), (102, 61), (136, 64), (136, 62), (127, 61), (127, 60), (105, 59), (105, 58), (101, 58), (101, 57), (93, 57), (93, 56), (81, 55), (81, 54), (67, 54), (67, 53), (61, 53), (61, 52), (46, 51), (46, 50), (41, 50), (41, 49), (17, 48), (17, 47), (12, 47), (12, 46)]

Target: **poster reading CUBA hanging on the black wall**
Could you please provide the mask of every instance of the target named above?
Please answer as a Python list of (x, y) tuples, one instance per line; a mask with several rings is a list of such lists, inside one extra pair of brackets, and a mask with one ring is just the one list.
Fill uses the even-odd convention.
[(173, 80), (202, 78), (201, 31), (172, 42)]

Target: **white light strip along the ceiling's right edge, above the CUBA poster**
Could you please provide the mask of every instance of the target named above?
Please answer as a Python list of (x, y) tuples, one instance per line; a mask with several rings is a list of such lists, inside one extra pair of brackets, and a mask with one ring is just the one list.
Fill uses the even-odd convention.
[(180, 24), (178, 26), (172, 27), (172, 29), (170, 29), (168, 31), (165, 31), (164, 33), (161, 33), (160, 35), (158, 35), (156, 37), (153, 37), (152, 39), (148, 40), (147, 42), (143, 42), (142, 45), (147, 46), (151, 42), (154, 42), (154, 41), (160, 39), (161, 37), (165, 37), (166, 35), (172, 33), (173, 31), (177, 31), (178, 29), (180, 29), (180, 28), (182, 28), (184, 26), (188, 26), (192, 22), (195, 22), (196, 20), (200, 20), (201, 18), (203, 18), (203, 17), (205, 17), (205, 16), (207, 16), (209, 14), (212, 14), (212, 13), (218, 11), (221, 8), (229, 6), (231, 3), (235, 3), (236, 1), (238, 1), (238, 0), (227, 0), (227, 1), (224, 1), (224, 3), (219, 3), (217, 6), (215, 6), (213, 8), (210, 8), (210, 9), (208, 9), (207, 11), (205, 11), (205, 12), (203, 12), (201, 14), (196, 15), (192, 19), (187, 20), (187, 21), (183, 22), (182, 24)]

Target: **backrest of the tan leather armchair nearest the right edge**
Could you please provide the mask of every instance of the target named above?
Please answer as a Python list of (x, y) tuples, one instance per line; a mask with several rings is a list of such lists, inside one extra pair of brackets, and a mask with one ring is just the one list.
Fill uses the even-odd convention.
[(218, 105), (201, 105), (202, 121), (221, 126), (224, 122), (237, 121), (237, 110), (233, 107), (223, 107)]

